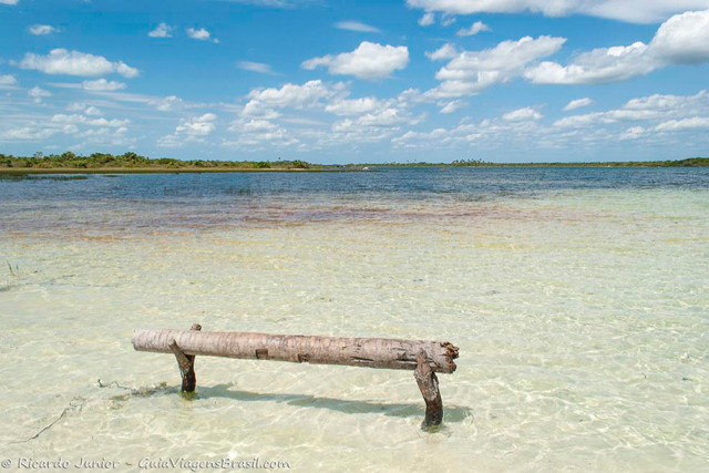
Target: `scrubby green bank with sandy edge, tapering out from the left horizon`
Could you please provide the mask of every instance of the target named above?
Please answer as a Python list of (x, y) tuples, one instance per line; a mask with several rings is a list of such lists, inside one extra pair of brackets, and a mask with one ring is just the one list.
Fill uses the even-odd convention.
[(208, 168), (239, 168), (239, 169), (311, 169), (317, 168), (305, 161), (209, 161), (209, 160), (175, 160), (160, 157), (151, 160), (135, 153), (113, 155), (109, 153), (93, 153), (81, 156), (72, 152), (62, 154), (35, 153), (33, 156), (12, 156), (0, 153), (1, 168), (20, 169), (91, 169), (91, 168), (125, 168), (125, 169), (208, 169)]

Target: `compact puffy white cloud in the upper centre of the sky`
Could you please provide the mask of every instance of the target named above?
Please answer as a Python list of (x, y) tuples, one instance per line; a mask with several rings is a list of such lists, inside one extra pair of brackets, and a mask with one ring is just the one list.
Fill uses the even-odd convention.
[(328, 68), (330, 74), (354, 75), (358, 79), (372, 80), (391, 75), (409, 64), (407, 47), (382, 45), (363, 41), (352, 52), (328, 54), (302, 63), (304, 69)]

